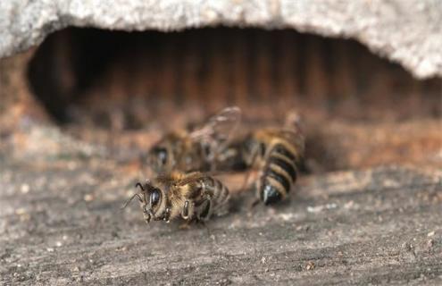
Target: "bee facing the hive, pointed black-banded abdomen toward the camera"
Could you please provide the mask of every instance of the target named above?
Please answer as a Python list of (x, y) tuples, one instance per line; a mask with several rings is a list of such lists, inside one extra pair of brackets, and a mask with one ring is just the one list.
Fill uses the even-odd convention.
[(271, 205), (286, 198), (296, 182), (304, 136), (297, 126), (253, 130), (244, 140), (242, 153), (247, 166), (259, 170), (256, 202)]

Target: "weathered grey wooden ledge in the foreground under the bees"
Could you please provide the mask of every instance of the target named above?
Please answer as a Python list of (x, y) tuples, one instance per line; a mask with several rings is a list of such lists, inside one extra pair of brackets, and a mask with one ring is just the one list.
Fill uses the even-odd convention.
[(385, 166), (301, 179), (289, 202), (207, 228), (121, 211), (136, 175), (100, 158), (0, 163), (0, 284), (442, 283), (442, 174)]

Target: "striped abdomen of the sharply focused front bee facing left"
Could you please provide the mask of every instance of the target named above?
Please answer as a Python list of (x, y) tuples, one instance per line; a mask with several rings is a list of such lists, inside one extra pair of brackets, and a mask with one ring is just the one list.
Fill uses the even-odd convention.
[(196, 206), (198, 219), (207, 220), (212, 214), (222, 215), (228, 211), (229, 189), (221, 181), (205, 177), (202, 181), (203, 199)]

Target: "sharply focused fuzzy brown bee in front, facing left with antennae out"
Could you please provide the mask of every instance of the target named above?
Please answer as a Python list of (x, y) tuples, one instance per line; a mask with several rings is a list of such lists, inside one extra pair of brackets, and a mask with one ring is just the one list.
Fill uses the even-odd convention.
[(136, 188), (141, 192), (129, 198), (123, 208), (133, 198), (138, 198), (146, 223), (169, 223), (178, 217), (187, 223), (204, 223), (213, 214), (228, 212), (229, 189), (202, 172), (171, 172), (154, 181), (138, 182)]

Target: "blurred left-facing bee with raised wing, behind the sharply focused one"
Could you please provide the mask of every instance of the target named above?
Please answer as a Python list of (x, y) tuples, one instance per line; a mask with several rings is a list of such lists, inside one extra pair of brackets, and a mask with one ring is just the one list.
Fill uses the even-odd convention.
[(156, 173), (214, 171), (228, 161), (225, 150), (240, 119), (241, 110), (232, 106), (194, 130), (172, 131), (151, 147), (148, 164)]

